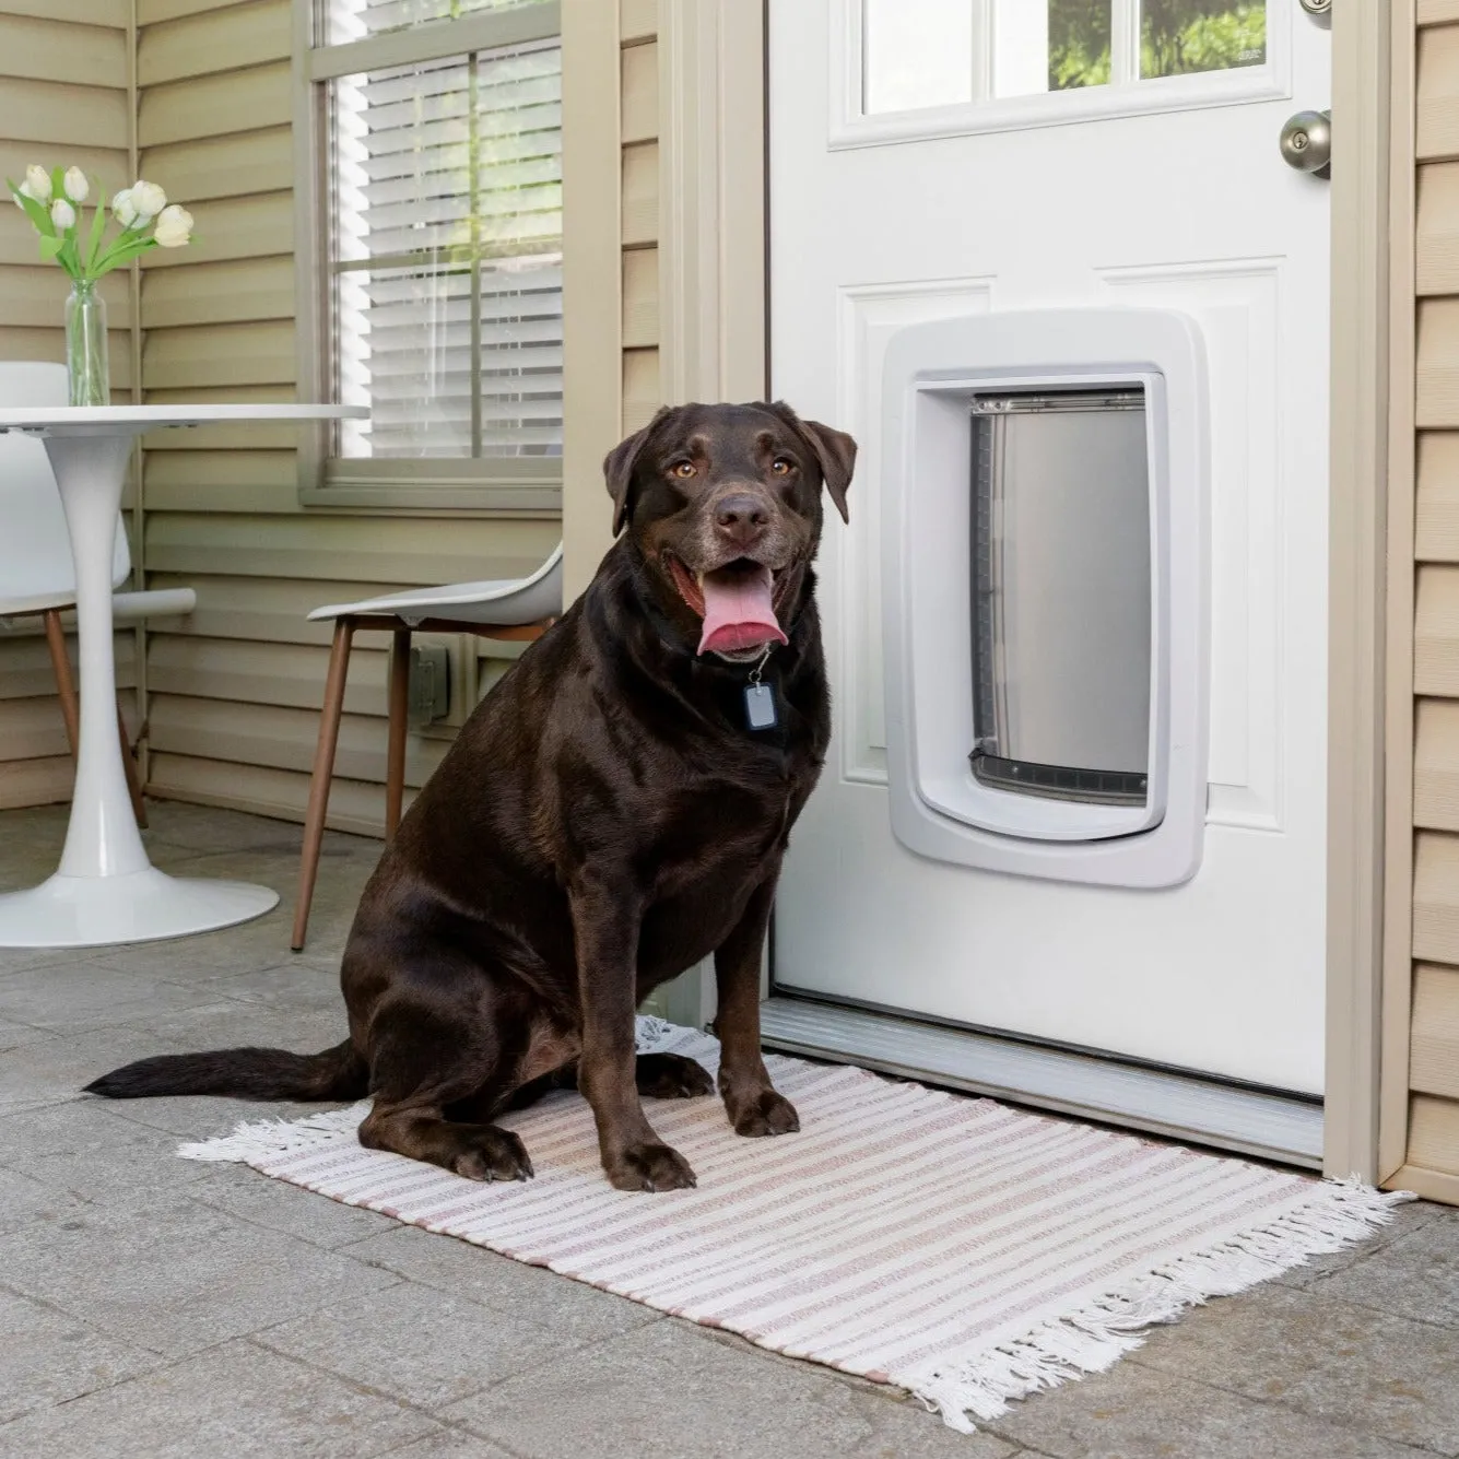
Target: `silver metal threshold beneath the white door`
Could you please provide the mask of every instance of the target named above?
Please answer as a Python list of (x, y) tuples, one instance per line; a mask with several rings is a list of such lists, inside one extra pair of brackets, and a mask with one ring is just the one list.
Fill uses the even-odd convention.
[(767, 1049), (783, 1053), (859, 1064), (1017, 1104), (1322, 1169), (1322, 1104), (1300, 1096), (798, 998), (772, 996), (763, 1002), (760, 1033)]

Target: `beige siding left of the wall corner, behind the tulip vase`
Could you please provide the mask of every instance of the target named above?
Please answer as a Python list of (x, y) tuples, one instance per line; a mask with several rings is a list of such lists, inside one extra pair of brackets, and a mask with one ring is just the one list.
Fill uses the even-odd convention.
[[(79, 166), (107, 191), (130, 181), (127, 0), (0, 0), (0, 178), (31, 162)], [(35, 231), (0, 194), (0, 359), (64, 360), (69, 283), (36, 252)], [(131, 279), (104, 286), (111, 382), (131, 398)], [(0, 584), (3, 591), (3, 584)], [(74, 641), (71, 641), (74, 659)], [(136, 724), (136, 642), (117, 636), (117, 681)], [(64, 801), (71, 760), (39, 620), (0, 626), (0, 810)]]

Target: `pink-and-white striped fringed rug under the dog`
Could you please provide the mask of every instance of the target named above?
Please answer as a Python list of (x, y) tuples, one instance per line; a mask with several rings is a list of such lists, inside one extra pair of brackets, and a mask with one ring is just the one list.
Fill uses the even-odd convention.
[[(641, 1049), (713, 1039), (641, 1020)], [(1107, 1369), (1141, 1331), (1360, 1240), (1408, 1199), (1046, 1119), (865, 1069), (770, 1056), (801, 1131), (741, 1139), (718, 1099), (646, 1102), (699, 1188), (614, 1191), (559, 1091), (502, 1121), (537, 1177), (477, 1185), (365, 1150), (365, 1106), (184, 1145), (896, 1383), (954, 1428)]]

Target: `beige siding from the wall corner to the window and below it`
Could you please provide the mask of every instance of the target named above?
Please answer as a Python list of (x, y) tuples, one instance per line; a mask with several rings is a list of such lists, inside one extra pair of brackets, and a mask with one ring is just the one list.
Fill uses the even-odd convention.
[[(201, 235), (143, 271), (146, 398), (295, 400), (289, 0), (139, 4), (143, 172), (191, 207)], [(296, 446), (280, 426), (147, 441), (149, 587), (198, 595), (191, 619), (150, 639), (155, 794), (302, 820), (331, 635), (308, 611), (524, 575), (560, 534), (547, 519), (303, 509)], [(474, 639), (445, 642), (457, 705), (512, 657)], [(387, 645), (379, 633), (356, 639), (330, 802), (341, 829), (384, 824)], [(452, 732), (411, 734), (409, 785), (423, 782)]]

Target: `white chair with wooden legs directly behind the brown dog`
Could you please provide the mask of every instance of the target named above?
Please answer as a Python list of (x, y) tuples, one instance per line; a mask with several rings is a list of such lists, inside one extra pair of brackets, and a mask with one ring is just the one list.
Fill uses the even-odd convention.
[(344, 678), (350, 667), (350, 646), (357, 629), (387, 629), (390, 649), (390, 743), (385, 751), (385, 839), (400, 826), (406, 795), (406, 728), (410, 711), (410, 636), (427, 633), (474, 633), (477, 638), (531, 642), (538, 639), (562, 614), (562, 543), (528, 578), (489, 582), (454, 582), (444, 588), (413, 588), (390, 592), (363, 603), (331, 603), (309, 614), (311, 623), (334, 622), (334, 645), (324, 681), (324, 712), (320, 718), (320, 744), (314, 754), (309, 782), (309, 808), (303, 823), (303, 861), (299, 867), (299, 903), (293, 915), (293, 940), (298, 953), (309, 926), (309, 903), (320, 870), (324, 842), (324, 817), (330, 807), (330, 782), (334, 779), (334, 751), (340, 740), (340, 713), (344, 709)]

